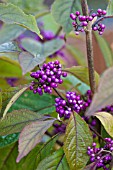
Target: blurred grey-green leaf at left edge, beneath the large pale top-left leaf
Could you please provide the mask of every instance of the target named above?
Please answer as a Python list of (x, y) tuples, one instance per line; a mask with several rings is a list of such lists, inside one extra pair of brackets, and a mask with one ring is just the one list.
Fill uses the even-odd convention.
[(16, 39), (24, 31), (25, 28), (22, 28), (19, 25), (4, 24), (3, 27), (0, 29), (0, 44)]

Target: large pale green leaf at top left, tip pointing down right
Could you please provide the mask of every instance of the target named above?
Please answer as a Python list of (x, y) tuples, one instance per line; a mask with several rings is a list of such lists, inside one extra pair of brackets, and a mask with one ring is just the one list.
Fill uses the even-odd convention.
[(17, 24), (37, 34), (40, 33), (35, 17), (25, 14), (13, 4), (0, 3), (0, 20), (8, 24)]

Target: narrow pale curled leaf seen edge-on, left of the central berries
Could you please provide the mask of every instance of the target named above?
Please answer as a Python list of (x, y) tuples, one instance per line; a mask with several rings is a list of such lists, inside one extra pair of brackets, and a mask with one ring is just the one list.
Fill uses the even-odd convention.
[(22, 93), (24, 91), (27, 90), (28, 87), (24, 87), (22, 88), (20, 91), (18, 91), (12, 98), (11, 100), (9, 101), (9, 103), (7, 104), (5, 110), (4, 110), (4, 113), (3, 113), (3, 117), (5, 117), (5, 115), (7, 114), (8, 110), (10, 109), (10, 107), (14, 104), (14, 102), (22, 95)]

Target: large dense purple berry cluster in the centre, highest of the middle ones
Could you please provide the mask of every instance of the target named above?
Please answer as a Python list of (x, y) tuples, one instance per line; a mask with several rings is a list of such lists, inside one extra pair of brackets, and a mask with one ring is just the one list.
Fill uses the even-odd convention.
[(58, 60), (43, 64), (40, 70), (31, 73), (31, 77), (35, 78), (32, 81), (30, 90), (39, 95), (45, 93), (52, 93), (52, 88), (57, 88), (58, 84), (62, 84), (61, 77), (66, 77), (67, 73), (62, 72), (62, 66)]

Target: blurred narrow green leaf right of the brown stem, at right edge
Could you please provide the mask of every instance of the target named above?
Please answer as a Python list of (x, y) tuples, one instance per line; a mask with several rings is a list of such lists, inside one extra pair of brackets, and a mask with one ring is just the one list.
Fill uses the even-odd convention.
[(99, 47), (104, 56), (106, 66), (107, 67), (113, 66), (113, 55), (109, 44), (103, 37), (100, 37), (98, 34), (94, 34), (94, 35), (97, 39), (97, 43), (99, 44)]

